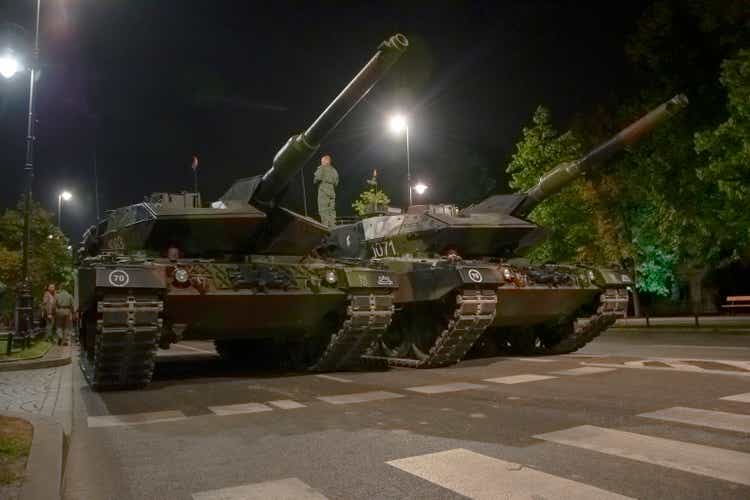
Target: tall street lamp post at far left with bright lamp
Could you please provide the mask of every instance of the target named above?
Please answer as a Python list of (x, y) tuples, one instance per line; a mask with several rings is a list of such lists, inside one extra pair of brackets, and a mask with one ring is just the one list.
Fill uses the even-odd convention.
[[(29, 113), (26, 122), (26, 195), (24, 196), (23, 214), (23, 258), (22, 278), (16, 290), (16, 314), (15, 334), (24, 338), (27, 343), (31, 341), (32, 311), (34, 299), (32, 297), (31, 279), (29, 277), (29, 246), (31, 244), (31, 189), (34, 181), (34, 83), (36, 80), (36, 61), (39, 57), (39, 11), (41, 0), (36, 2), (36, 22), (34, 25), (34, 50), (32, 61), (29, 65)], [(12, 57), (12, 54), (3, 56), (0, 61), (0, 74), (5, 78), (11, 78), (21, 65)], [(8, 336), (7, 352), (13, 347), (13, 333)]]

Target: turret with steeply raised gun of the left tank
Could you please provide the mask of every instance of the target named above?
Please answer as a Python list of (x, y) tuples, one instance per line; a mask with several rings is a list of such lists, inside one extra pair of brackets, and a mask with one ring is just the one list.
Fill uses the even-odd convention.
[(263, 175), (236, 181), (210, 208), (202, 207), (190, 193), (160, 193), (113, 210), (84, 235), (82, 256), (99, 252), (164, 255), (170, 247), (188, 257), (309, 253), (328, 228), (279, 206), (279, 200), (289, 180), (408, 46), (401, 34), (382, 42), (323, 113), (281, 147)]

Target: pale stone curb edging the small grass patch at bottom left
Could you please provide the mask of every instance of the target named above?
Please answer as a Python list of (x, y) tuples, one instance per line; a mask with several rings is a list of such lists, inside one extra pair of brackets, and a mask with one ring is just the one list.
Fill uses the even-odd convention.
[(3, 412), (34, 427), (20, 500), (59, 499), (62, 495), (63, 429), (52, 417)]

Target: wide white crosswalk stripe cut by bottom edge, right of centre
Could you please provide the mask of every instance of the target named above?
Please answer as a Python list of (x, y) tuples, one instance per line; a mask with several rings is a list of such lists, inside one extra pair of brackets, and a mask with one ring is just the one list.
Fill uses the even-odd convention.
[(629, 498), (461, 448), (386, 463), (459, 495), (479, 500)]

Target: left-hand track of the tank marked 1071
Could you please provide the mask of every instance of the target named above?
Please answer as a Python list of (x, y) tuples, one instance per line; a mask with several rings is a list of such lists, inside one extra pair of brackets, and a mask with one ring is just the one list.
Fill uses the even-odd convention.
[(423, 359), (368, 356), (385, 359), (390, 366), (437, 368), (458, 363), (495, 320), (497, 295), (494, 290), (460, 290), (456, 308), (447, 327), (435, 339)]

